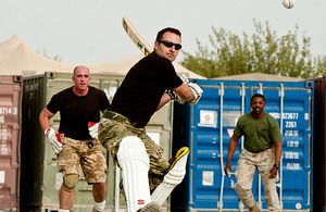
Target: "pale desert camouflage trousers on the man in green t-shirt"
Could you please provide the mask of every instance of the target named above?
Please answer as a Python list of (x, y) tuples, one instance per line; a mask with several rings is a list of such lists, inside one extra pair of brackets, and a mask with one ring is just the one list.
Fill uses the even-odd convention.
[(275, 183), (278, 182), (278, 173), (275, 178), (269, 178), (269, 171), (272, 170), (274, 162), (274, 147), (259, 153), (252, 153), (246, 149), (242, 149), (235, 173), (237, 183), (235, 184), (234, 188), (244, 207), (251, 208), (255, 205), (255, 200), (253, 198), (251, 188), (253, 175), (255, 171), (259, 170), (264, 186), (265, 201), (268, 211), (280, 211), (275, 185)]

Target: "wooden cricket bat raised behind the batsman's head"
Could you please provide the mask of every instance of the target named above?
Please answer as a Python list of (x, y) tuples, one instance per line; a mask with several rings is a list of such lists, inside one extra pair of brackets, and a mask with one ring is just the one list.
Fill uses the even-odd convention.
[(123, 17), (123, 27), (133, 40), (133, 42), (145, 55), (148, 55), (153, 51), (153, 49), (137, 33), (136, 28), (133, 26), (131, 22), (127, 17)]

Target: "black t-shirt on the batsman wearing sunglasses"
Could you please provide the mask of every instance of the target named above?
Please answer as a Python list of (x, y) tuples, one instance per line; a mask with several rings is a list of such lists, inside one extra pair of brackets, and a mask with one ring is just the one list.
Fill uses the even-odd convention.
[(183, 84), (172, 62), (152, 52), (136, 63), (116, 90), (110, 111), (146, 126), (156, 111), (165, 89)]

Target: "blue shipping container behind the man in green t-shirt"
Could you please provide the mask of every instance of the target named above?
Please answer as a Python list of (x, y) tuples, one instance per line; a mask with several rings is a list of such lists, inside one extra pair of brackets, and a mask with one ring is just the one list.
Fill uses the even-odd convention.
[[(192, 79), (195, 80), (195, 79)], [(265, 112), (274, 116), (283, 134), (277, 192), (283, 211), (312, 211), (313, 200), (313, 82), (195, 80), (203, 89), (197, 104), (174, 105), (173, 149), (189, 146), (187, 175), (172, 194), (172, 211), (248, 211), (240, 202), (234, 175), (224, 174), (228, 142), (237, 120), (250, 112), (250, 98), (262, 93)], [(231, 173), (243, 147), (242, 138), (231, 160)], [(252, 192), (266, 211), (259, 174)]]

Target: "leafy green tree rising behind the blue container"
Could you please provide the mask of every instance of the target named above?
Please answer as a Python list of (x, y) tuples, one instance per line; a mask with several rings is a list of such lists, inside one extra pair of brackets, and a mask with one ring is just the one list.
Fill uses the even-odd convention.
[(254, 72), (309, 78), (326, 73), (326, 57), (312, 57), (311, 39), (303, 35), (299, 45), (298, 25), (278, 38), (268, 22), (265, 27), (255, 20), (253, 23), (253, 35), (243, 33), (242, 39), (224, 28), (212, 27), (211, 48), (196, 39), (196, 55), (183, 51), (186, 57), (181, 64), (208, 78)]

